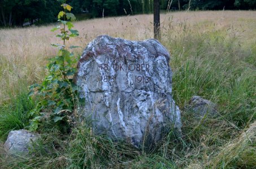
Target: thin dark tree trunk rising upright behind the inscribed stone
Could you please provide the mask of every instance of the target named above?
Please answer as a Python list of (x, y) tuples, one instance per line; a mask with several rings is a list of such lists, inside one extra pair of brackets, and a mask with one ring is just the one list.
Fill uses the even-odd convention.
[(160, 40), (160, 9), (159, 0), (154, 0), (154, 38)]

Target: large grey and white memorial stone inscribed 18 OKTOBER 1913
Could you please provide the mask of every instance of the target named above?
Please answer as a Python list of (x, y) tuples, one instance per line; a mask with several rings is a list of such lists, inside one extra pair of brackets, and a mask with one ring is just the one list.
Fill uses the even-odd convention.
[(157, 40), (97, 37), (83, 51), (76, 81), (82, 114), (95, 134), (151, 146), (172, 128), (180, 110), (172, 99), (170, 55)]

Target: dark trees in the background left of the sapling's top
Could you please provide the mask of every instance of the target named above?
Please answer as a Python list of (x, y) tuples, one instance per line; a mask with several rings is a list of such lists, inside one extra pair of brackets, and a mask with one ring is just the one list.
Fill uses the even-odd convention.
[(33, 24), (36, 19), (41, 23), (53, 22), (60, 4), (56, 0), (0, 0), (0, 25), (22, 26), (25, 21)]

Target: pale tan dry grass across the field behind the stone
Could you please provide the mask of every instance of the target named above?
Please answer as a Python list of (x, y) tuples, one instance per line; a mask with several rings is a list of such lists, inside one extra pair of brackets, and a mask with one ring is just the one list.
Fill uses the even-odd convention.
[[(171, 12), (161, 15), (162, 43), (182, 38), (186, 34), (219, 32), (242, 38), (246, 46), (255, 43), (255, 11)], [(153, 37), (153, 15), (110, 17), (79, 21), (75, 28), (80, 37), (72, 45), (85, 46), (98, 35), (109, 34), (131, 40)], [(17, 88), (18, 81), (29, 84), (40, 81), (44, 75), (46, 58), (55, 55), (51, 43), (58, 43), (50, 29), (54, 26), (0, 29), (0, 100), (8, 99), (8, 92)], [(246, 40), (245, 40), (246, 39)], [(172, 47), (168, 48), (172, 52)], [(77, 53), (81, 53), (81, 49)]]

